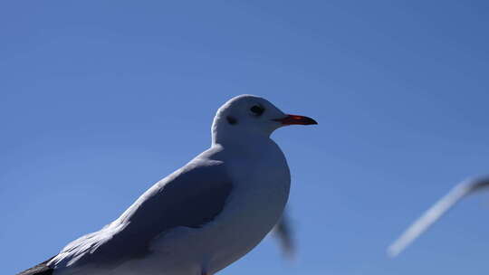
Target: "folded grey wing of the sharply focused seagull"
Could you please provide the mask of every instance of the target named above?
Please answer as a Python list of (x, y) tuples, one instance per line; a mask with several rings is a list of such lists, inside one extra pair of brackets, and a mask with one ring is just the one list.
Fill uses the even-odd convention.
[(149, 188), (119, 219), (70, 243), (50, 265), (113, 267), (144, 256), (161, 233), (214, 220), (232, 188), (222, 162), (194, 160)]

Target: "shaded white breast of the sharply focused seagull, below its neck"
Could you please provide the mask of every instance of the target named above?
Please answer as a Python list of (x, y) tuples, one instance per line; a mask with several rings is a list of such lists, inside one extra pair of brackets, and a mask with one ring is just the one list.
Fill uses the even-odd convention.
[(256, 152), (256, 157), (226, 162), (235, 190), (216, 220), (222, 227), (216, 234), (222, 246), (209, 262), (212, 272), (251, 251), (282, 216), (289, 196), (290, 172), (282, 151), (270, 141)]

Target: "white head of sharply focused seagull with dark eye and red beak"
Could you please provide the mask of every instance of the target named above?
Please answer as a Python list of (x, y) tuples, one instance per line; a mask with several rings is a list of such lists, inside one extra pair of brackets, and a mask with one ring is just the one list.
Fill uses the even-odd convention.
[(275, 129), (283, 126), (312, 124), (318, 123), (308, 117), (286, 114), (264, 98), (241, 95), (228, 100), (217, 110), (212, 125), (213, 141), (270, 137)]

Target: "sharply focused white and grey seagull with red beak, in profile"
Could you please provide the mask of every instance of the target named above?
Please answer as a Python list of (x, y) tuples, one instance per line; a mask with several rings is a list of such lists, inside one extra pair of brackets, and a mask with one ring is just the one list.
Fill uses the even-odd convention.
[(317, 124), (241, 95), (216, 112), (211, 147), (161, 179), (118, 219), (18, 275), (212, 275), (279, 223), (291, 175), (270, 138)]

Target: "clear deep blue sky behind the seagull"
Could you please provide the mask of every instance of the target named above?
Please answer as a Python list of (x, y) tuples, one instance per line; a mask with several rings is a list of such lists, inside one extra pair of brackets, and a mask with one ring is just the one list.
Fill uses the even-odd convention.
[(488, 18), (484, 1), (3, 2), (2, 273), (115, 219), (251, 93), (320, 123), (273, 134), (299, 252), (266, 239), (221, 274), (485, 274), (487, 194), (385, 249), (489, 173)]

